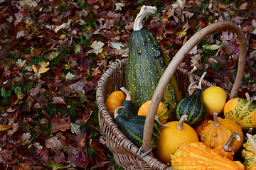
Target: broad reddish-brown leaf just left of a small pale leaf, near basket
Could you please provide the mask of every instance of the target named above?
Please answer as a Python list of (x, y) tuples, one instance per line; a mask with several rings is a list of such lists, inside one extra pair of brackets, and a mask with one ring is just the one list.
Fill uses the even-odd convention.
[(51, 120), (51, 132), (58, 132), (59, 130), (65, 132), (66, 130), (70, 129), (70, 121), (65, 122), (65, 118), (59, 120), (58, 117), (54, 117)]

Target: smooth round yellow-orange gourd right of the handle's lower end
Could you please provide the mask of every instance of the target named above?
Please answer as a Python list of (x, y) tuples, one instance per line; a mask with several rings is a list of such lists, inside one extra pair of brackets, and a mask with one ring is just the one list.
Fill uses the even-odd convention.
[(171, 160), (171, 154), (175, 152), (181, 143), (198, 142), (198, 135), (190, 125), (184, 123), (188, 115), (183, 115), (179, 121), (172, 121), (161, 128), (161, 135), (156, 148), (153, 150), (154, 157), (160, 162), (167, 164)]

